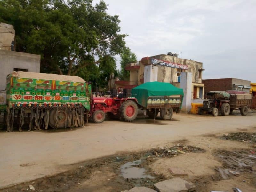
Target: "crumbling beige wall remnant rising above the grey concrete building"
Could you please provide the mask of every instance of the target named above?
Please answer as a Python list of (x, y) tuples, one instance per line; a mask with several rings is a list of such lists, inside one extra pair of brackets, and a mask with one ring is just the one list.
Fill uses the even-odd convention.
[(15, 51), (15, 30), (12, 25), (0, 23), (0, 50)]

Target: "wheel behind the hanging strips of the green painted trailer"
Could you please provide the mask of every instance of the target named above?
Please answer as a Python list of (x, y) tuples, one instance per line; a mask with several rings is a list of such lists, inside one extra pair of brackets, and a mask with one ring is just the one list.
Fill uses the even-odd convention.
[[(57, 108), (53, 108), (49, 113), (49, 125), (53, 129), (65, 128), (68, 126), (68, 113), (69, 110), (58, 109), (58, 114), (56, 114)], [(58, 121), (58, 123), (57, 123)], [(57, 124), (57, 126), (56, 126)]]

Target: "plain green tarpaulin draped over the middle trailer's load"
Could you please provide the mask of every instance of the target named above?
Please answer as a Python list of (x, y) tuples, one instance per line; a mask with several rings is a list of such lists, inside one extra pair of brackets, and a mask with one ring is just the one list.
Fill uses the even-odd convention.
[[(132, 96), (138, 100), (138, 103), (146, 107), (149, 96), (184, 96), (183, 89), (177, 88), (170, 83), (147, 82), (132, 89)], [(182, 97), (183, 99), (183, 97)]]

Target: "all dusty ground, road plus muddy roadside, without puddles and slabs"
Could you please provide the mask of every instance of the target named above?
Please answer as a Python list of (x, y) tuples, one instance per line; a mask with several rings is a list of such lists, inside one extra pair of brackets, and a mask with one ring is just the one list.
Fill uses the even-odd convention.
[[(246, 189), (244, 191), (255, 191), (253, 157), (250, 157), (248, 162), (246, 160), (247, 164), (252, 162), (248, 165), (252, 168), (248, 167), (245, 171), (244, 168), (242, 171), (237, 168), (239, 165), (234, 162), (229, 163), (231, 167), (225, 162), (225, 154), (229, 154), (227, 158), (230, 158), (233, 152), (243, 154), (235, 156), (238, 159), (244, 159), (248, 154), (255, 155), (252, 153), (256, 150), (253, 141), (232, 141), (232, 135), (226, 138), (229, 132), (255, 133), (255, 117), (254, 113), (248, 116), (215, 118), (180, 114), (174, 115), (174, 121), (157, 120), (154, 123), (148, 119), (140, 119), (132, 124), (106, 121), (100, 126), (89, 124), (67, 132), (2, 132), (0, 185), (4, 188), (7, 185), (43, 177), (5, 188), (3, 191), (27, 190), (29, 184), (32, 184), (36, 191), (121, 191), (135, 185), (152, 188), (155, 182), (171, 178), (166, 168), (175, 166), (188, 172), (188, 176), (183, 178), (196, 184), (197, 191), (220, 190), (219, 188), (228, 186), (229, 189), (225, 189), (227, 191), (231, 191), (230, 187), (239, 186)], [(254, 135), (251, 135), (251, 138), (253, 137)], [(191, 147), (191, 151), (184, 149), (184, 154), (175, 152), (161, 157), (153, 152), (162, 154), (159, 147), (173, 148), (173, 141), (181, 139), (183, 141), (180, 141), (180, 145), (203, 150), (192, 150)], [(248, 137), (244, 141), (248, 141)], [(115, 155), (93, 159), (109, 154)], [(138, 159), (145, 159), (140, 166), (146, 168), (154, 179), (126, 180), (120, 175), (121, 165)], [(77, 164), (79, 161), (81, 163)], [(223, 180), (219, 168), (224, 171), (235, 169), (233, 171), (240, 174), (236, 177), (224, 175), (226, 178)], [(54, 175), (57, 173), (60, 174)], [(45, 175), (54, 176), (44, 177)], [(238, 183), (239, 186), (236, 186)]]

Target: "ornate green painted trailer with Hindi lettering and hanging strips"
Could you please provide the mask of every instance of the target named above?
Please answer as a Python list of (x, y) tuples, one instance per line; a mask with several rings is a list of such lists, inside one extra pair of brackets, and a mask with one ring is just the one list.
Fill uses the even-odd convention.
[(83, 126), (89, 116), (91, 85), (78, 76), (12, 72), (6, 80), (7, 131), (15, 118), (21, 131), (26, 119), (31, 130)]

